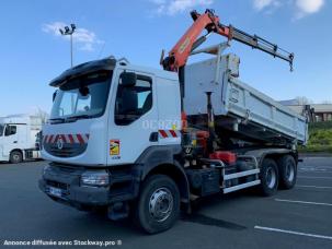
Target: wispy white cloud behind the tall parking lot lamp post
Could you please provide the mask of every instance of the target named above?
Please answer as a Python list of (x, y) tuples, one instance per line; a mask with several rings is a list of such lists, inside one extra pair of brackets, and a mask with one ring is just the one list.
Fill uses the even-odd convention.
[[(59, 28), (64, 28), (68, 24), (64, 22), (47, 23), (42, 26), (42, 31), (68, 40), (70, 37), (68, 35), (61, 35), (59, 32)], [(103, 40), (99, 39), (93, 32), (82, 27), (78, 27), (75, 31), (72, 40), (79, 45), (80, 50), (84, 51), (94, 51), (96, 45), (104, 43)]]

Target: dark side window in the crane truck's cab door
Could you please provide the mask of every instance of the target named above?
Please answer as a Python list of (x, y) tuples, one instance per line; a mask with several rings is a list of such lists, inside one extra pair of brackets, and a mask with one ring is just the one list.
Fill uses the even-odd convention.
[(115, 123), (127, 126), (152, 108), (152, 79), (137, 75), (134, 86), (118, 83), (115, 100)]

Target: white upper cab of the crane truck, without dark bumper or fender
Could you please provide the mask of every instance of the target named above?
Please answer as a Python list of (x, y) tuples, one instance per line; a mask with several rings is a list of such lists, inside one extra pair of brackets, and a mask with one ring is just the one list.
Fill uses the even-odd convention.
[(59, 88), (43, 129), (48, 161), (119, 166), (135, 163), (147, 147), (181, 143), (180, 137), (158, 140), (159, 126), (175, 134), (181, 129), (175, 73), (105, 59), (73, 68), (51, 84)]

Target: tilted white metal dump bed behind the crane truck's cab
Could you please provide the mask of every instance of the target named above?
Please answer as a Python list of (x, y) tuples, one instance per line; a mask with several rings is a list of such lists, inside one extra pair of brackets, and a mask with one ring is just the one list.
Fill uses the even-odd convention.
[(239, 80), (240, 60), (226, 55), (185, 69), (184, 109), (188, 116), (206, 114), (206, 92), (217, 128), (248, 140), (306, 144), (307, 119)]

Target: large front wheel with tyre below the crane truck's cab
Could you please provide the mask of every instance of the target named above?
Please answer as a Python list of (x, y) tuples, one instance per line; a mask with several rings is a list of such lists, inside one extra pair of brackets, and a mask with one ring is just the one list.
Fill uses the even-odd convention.
[(136, 223), (148, 234), (171, 228), (180, 213), (180, 192), (163, 175), (149, 177), (142, 186), (136, 208)]

